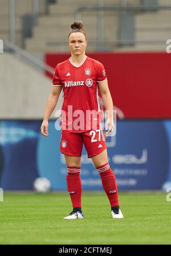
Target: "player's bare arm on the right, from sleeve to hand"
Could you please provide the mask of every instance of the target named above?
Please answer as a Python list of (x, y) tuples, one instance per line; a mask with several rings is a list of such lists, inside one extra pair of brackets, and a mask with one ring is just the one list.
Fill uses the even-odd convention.
[(105, 124), (105, 129), (108, 129), (108, 132), (113, 132), (114, 123), (113, 123), (113, 100), (111, 97), (111, 92), (109, 91), (108, 81), (105, 79), (103, 82), (97, 82), (98, 88), (103, 100), (104, 108), (107, 110), (108, 119)]

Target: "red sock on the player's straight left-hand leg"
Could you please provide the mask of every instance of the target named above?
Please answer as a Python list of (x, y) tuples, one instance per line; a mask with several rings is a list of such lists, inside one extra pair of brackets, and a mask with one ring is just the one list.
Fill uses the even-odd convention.
[(70, 194), (73, 208), (82, 208), (82, 181), (80, 167), (67, 166), (67, 189)]

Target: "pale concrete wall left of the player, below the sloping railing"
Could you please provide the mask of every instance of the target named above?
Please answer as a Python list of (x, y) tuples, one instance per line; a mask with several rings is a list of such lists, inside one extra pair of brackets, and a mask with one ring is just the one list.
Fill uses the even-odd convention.
[[(43, 119), (51, 84), (51, 79), (13, 55), (0, 54), (0, 119)], [(56, 109), (61, 106), (62, 93)]]

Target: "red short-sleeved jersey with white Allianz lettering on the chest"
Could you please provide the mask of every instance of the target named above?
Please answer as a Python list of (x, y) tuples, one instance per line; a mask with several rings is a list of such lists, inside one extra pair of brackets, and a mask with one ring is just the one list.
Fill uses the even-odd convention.
[(71, 58), (57, 64), (52, 83), (63, 86), (62, 129), (84, 132), (93, 128), (93, 120), (99, 122), (95, 115), (101, 110), (97, 82), (105, 79), (103, 64), (88, 56), (79, 67), (71, 63)]

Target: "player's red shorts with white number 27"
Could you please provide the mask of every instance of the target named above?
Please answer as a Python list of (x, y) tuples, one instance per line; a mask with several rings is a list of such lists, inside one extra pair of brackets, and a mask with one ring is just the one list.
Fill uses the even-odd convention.
[(105, 138), (101, 129), (87, 132), (68, 132), (62, 130), (60, 152), (70, 156), (82, 156), (82, 149), (86, 148), (88, 158), (106, 149)]

